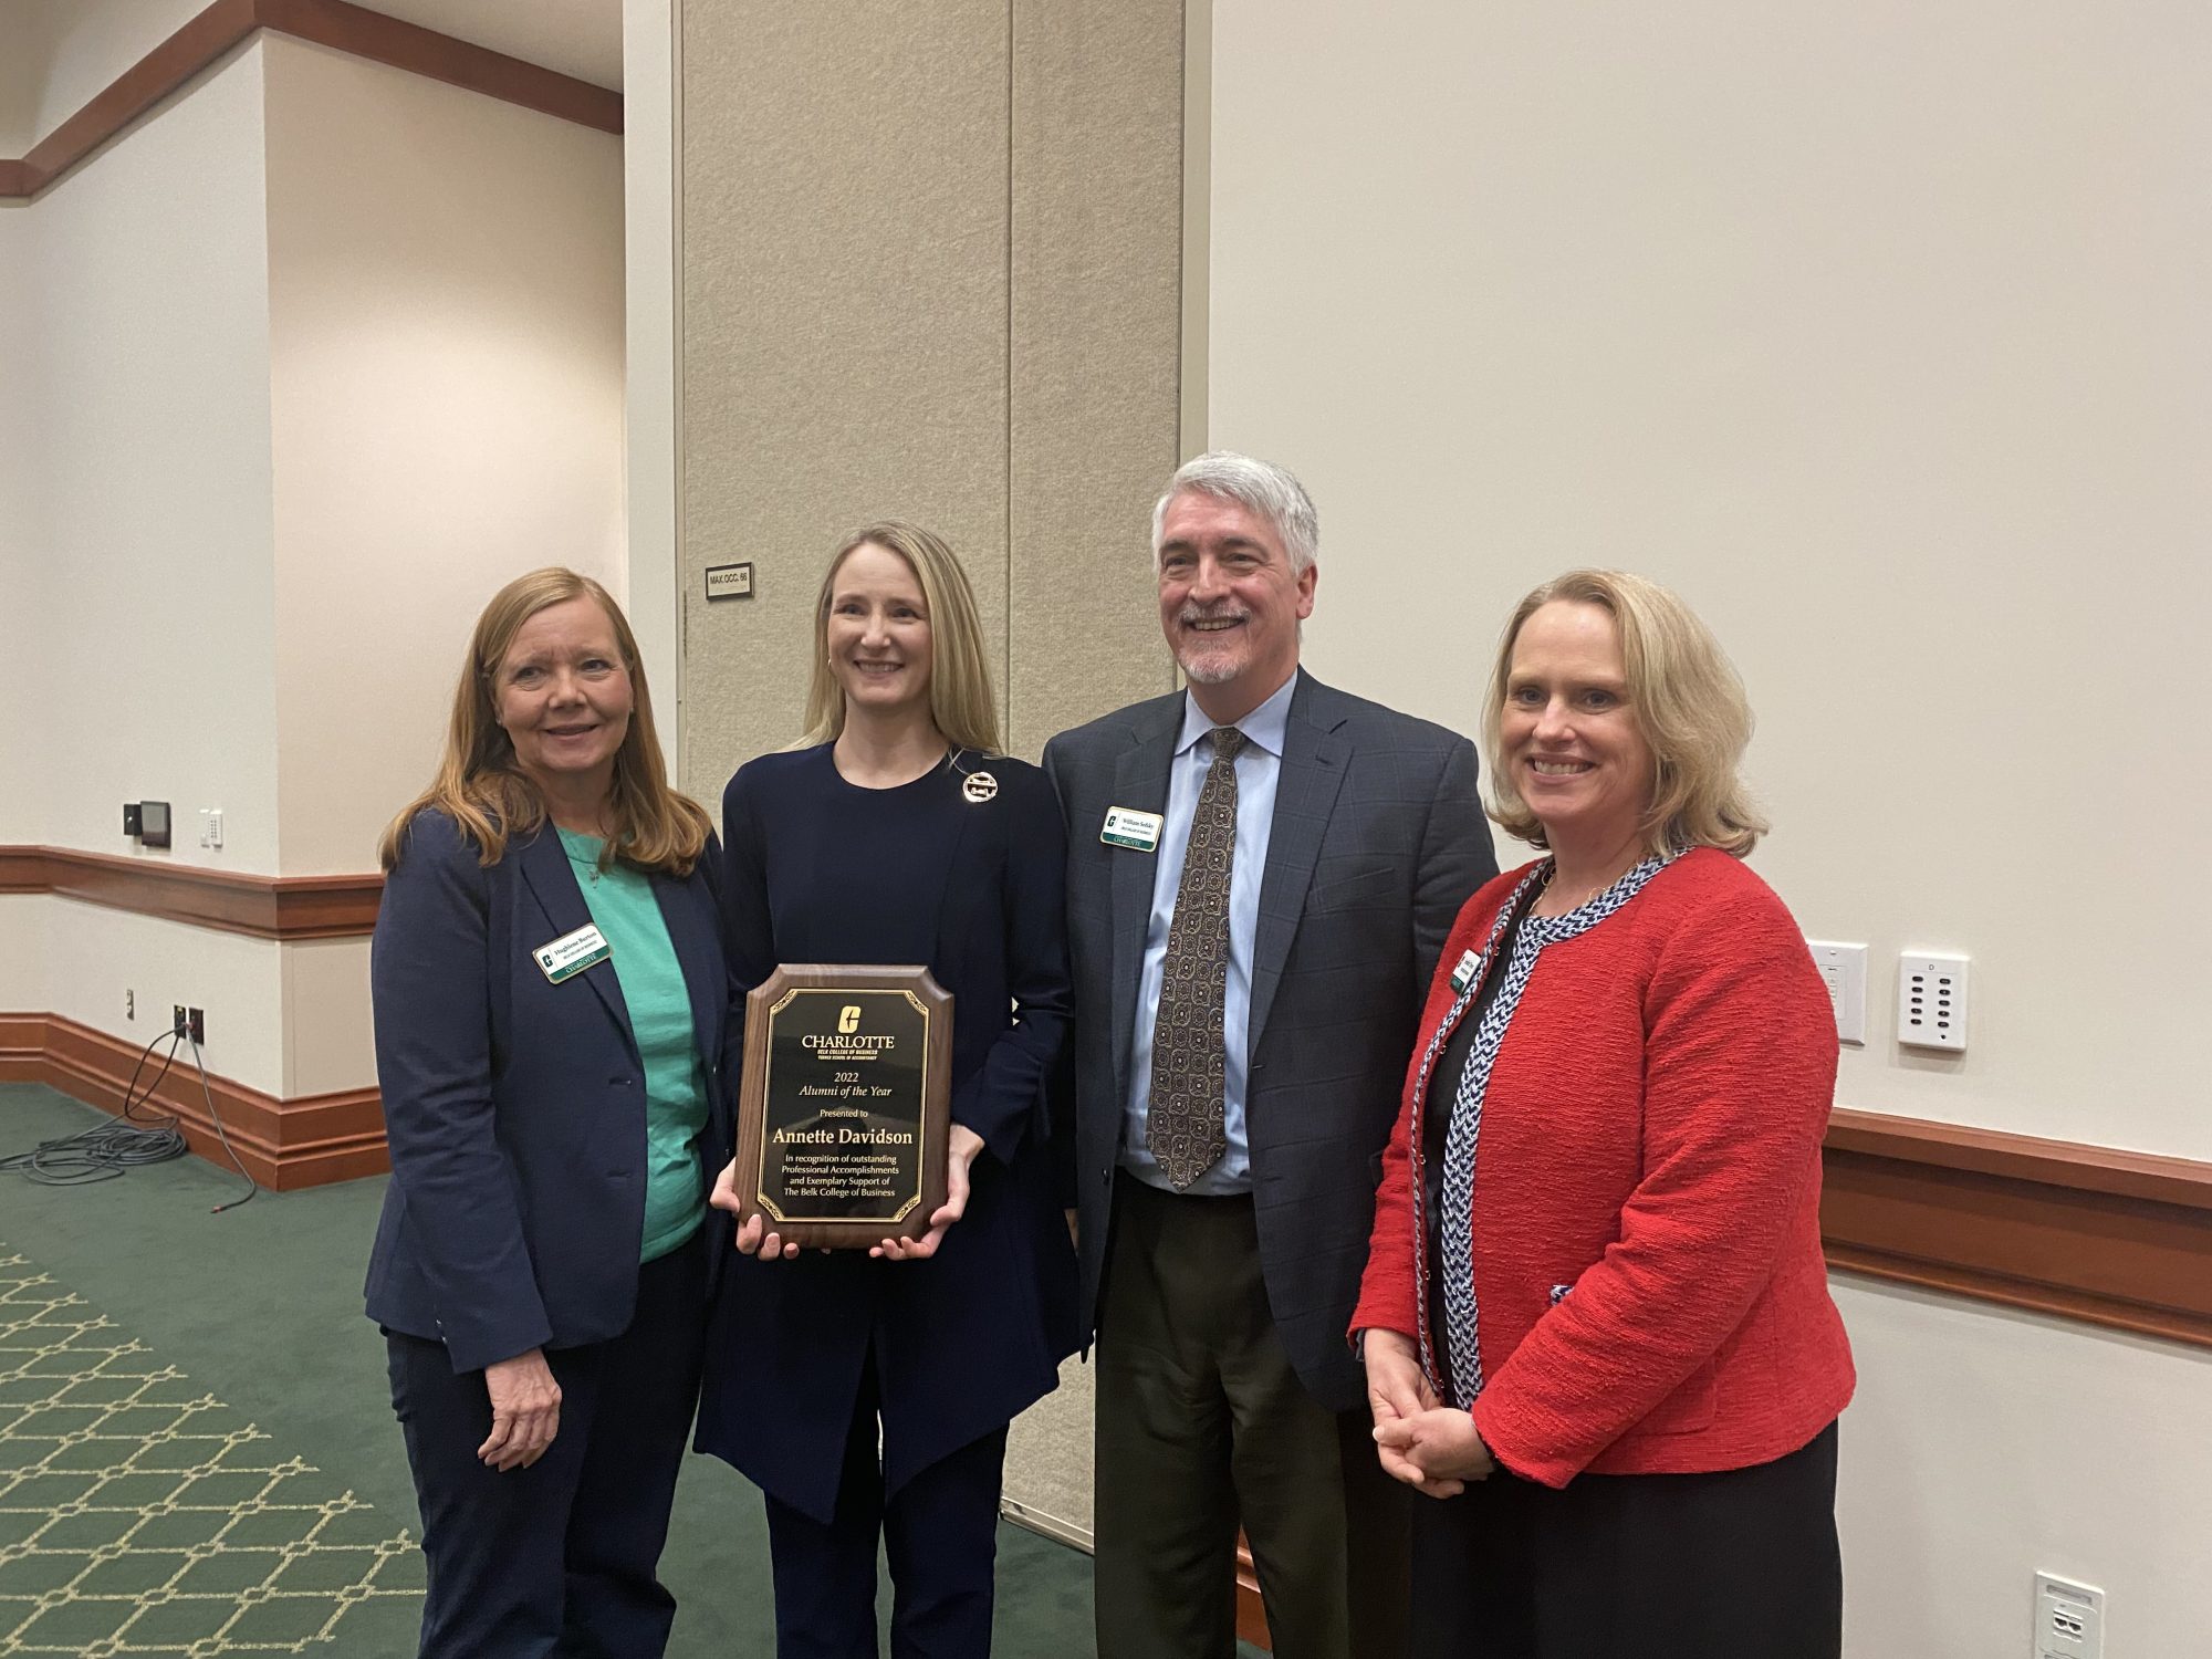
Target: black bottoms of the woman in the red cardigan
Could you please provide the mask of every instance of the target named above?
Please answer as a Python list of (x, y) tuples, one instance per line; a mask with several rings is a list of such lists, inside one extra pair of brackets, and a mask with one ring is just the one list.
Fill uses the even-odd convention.
[(1838, 1659), (1836, 1425), (1754, 1469), (1416, 1498), (1416, 1659)]

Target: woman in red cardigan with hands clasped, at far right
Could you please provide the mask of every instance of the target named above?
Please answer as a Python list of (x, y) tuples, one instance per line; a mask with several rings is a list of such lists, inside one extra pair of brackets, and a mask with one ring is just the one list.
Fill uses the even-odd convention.
[(1506, 626), (1491, 816), (1551, 856), (1444, 947), (1354, 1314), (1383, 1467), (1438, 1500), (1420, 1655), (1840, 1652), (1836, 1024), (1741, 863), (1750, 730), (1650, 582), (1575, 571)]

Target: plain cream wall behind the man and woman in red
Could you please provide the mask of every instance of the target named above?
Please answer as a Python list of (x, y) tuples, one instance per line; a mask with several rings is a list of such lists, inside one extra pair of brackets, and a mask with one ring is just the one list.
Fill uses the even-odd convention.
[[(1464, 728), (1526, 586), (1674, 584), (1759, 867), (1874, 947), (1838, 1097), (2212, 1157), (2212, 13), (1217, 0), (1212, 46), (1212, 440), (1314, 487), (1314, 668)], [(1966, 1055), (1891, 1044), (1907, 947), (1973, 958)], [(2037, 1568), (2108, 1659), (2201, 1646), (2201, 1354), (1838, 1301), (1854, 1659), (2024, 1652)]]

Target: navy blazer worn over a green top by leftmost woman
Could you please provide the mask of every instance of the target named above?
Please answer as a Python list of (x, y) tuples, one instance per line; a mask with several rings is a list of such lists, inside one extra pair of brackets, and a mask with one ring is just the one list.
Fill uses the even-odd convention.
[[(708, 1077), (701, 1159), (730, 1139), (717, 863), (710, 843), (690, 876), (653, 876)], [(586, 922), (551, 825), (487, 869), (460, 825), (422, 812), (385, 878), (369, 993), (392, 1186), (367, 1312), (442, 1340), (456, 1371), (619, 1336), (637, 1301), (646, 1073), (630, 1013), (613, 962), (553, 984), (531, 956)]]

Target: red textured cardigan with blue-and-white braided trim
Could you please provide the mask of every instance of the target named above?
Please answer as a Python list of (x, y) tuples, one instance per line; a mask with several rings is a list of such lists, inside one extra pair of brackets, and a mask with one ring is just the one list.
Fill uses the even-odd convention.
[[(1352, 1329), (1418, 1334), (1420, 1055), (1453, 1004), (1451, 971), (1524, 874), (1467, 900), (1444, 945)], [(1820, 1256), (1834, 1084), (1836, 1022), (1805, 940), (1723, 852), (1683, 854), (1544, 947), (1491, 1068), (1475, 1164), (1473, 1416), (1498, 1462), (1546, 1486), (1747, 1469), (1843, 1411), (1851, 1349)]]

